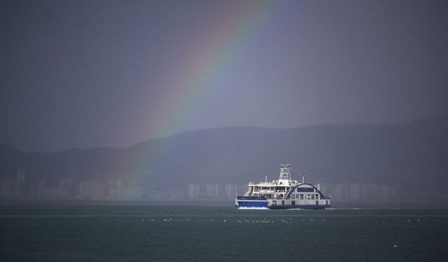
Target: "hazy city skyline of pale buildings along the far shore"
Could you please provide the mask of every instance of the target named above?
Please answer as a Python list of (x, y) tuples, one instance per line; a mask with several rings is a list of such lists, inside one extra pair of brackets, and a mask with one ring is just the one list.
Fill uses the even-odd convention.
[[(400, 203), (398, 187), (377, 183), (330, 183), (323, 191), (335, 201), (366, 203)], [(19, 169), (15, 180), (0, 180), (0, 201), (226, 201), (235, 194), (244, 195), (246, 184), (186, 183), (181, 187), (142, 185), (137, 179), (59, 179), (27, 181)], [(446, 201), (444, 195), (441, 201)], [(447, 198), (447, 199), (445, 199)], [(433, 200), (431, 200), (433, 201)], [(438, 202), (437, 202), (438, 203)]]

